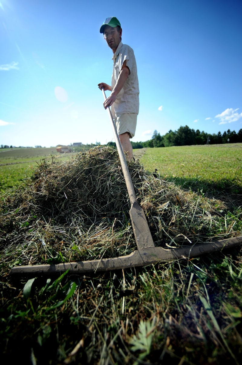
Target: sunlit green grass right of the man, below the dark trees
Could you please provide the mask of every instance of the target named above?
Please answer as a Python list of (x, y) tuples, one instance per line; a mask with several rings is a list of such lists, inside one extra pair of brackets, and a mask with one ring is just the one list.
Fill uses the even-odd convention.
[(241, 194), (242, 143), (150, 148), (140, 161), (182, 188), (210, 193), (229, 189)]

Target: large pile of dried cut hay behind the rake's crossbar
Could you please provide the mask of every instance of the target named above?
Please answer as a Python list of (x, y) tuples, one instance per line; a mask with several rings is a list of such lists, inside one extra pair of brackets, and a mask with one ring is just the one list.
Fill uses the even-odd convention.
[[(221, 227), (213, 200), (155, 178), (138, 161), (128, 168), (156, 246), (235, 235)], [(11, 265), (126, 255), (136, 248), (129, 209), (116, 149), (95, 147), (64, 162), (43, 159), (1, 205), (1, 251), (11, 255)]]

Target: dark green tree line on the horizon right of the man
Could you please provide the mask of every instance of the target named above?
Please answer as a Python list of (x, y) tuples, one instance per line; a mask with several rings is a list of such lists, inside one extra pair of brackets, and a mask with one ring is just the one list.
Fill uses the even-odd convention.
[(171, 146), (191, 146), (191, 145), (214, 145), (220, 143), (238, 143), (242, 142), (242, 128), (236, 133), (227, 130), (227, 132), (218, 132), (218, 134), (209, 134), (204, 131), (190, 129), (188, 126), (180, 127), (177, 131), (168, 131), (165, 135), (160, 135), (156, 130), (152, 138), (146, 142), (132, 142), (132, 147), (171, 147)]

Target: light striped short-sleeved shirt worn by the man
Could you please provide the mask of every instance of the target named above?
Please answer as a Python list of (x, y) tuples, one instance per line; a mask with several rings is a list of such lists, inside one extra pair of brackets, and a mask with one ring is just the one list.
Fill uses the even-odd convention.
[(124, 83), (123, 88), (118, 93), (115, 102), (111, 105), (113, 116), (119, 114), (139, 113), (139, 82), (137, 76), (137, 66), (135, 55), (132, 48), (128, 45), (119, 43), (115, 54), (112, 57), (114, 67), (112, 71), (112, 89), (114, 88), (123, 63), (126, 60), (126, 66), (130, 70), (130, 74)]

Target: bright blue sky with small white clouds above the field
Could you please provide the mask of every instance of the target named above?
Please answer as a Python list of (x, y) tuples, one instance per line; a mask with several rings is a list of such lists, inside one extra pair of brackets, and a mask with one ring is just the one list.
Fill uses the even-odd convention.
[(114, 141), (97, 86), (111, 82), (112, 50), (99, 33), (108, 16), (136, 57), (132, 141), (185, 125), (238, 132), (241, 14), (241, 0), (0, 0), (0, 145)]

